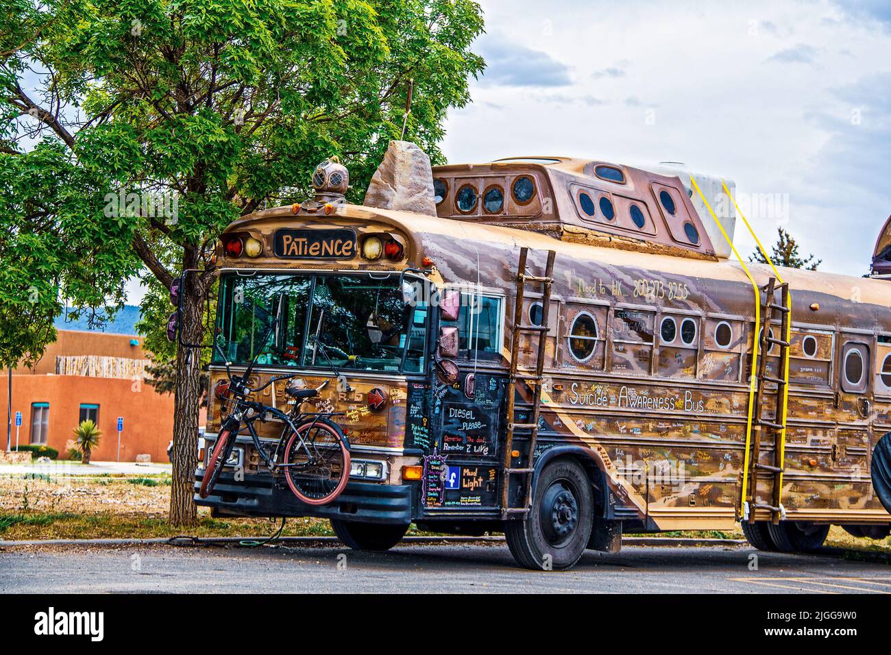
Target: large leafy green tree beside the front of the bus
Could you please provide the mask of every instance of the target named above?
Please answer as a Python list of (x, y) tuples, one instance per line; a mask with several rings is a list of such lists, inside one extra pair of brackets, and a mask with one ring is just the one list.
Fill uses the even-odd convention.
[[(255, 209), (307, 197), (339, 155), (353, 198), (388, 141), (441, 160), (450, 107), (483, 61), (471, 0), (9, 0), (0, 12), (0, 359), (37, 359), (53, 316), (110, 315), (124, 282), (147, 286), (143, 329), (177, 271), (187, 342), (207, 335), (208, 257)], [(154, 326), (158, 326), (155, 328)], [(152, 332), (150, 331), (150, 334)], [(196, 517), (200, 369), (176, 362), (170, 519)], [(165, 349), (166, 348), (166, 349)]]

